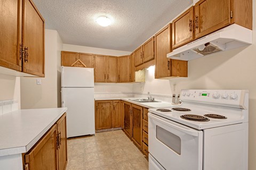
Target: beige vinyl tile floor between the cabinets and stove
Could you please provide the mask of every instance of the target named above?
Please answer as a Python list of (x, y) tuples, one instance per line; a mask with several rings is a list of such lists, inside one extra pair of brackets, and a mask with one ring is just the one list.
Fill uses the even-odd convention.
[(69, 139), (67, 170), (148, 170), (148, 160), (122, 130)]

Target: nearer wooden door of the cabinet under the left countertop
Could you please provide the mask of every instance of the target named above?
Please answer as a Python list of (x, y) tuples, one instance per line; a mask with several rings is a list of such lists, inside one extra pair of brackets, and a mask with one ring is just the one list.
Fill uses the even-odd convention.
[(30, 170), (58, 169), (57, 125), (53, 125), (44, 137), (25, 155)]

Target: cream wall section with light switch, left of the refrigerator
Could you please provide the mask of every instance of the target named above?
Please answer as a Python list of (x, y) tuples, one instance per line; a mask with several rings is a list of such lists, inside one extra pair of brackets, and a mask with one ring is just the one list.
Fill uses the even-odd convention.
[[(62, 41), (55, 30), (45, 30), (45, 78), (21, 78), (21, 108), (60, 107), (60, 51)], [(42, 80), (42, 85), (36, 84)]]

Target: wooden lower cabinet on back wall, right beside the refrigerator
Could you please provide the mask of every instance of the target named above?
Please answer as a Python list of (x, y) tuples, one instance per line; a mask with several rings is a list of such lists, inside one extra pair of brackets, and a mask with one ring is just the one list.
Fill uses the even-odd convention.
[(121, 128), (121, 101), (95, 101), (95, 130)]

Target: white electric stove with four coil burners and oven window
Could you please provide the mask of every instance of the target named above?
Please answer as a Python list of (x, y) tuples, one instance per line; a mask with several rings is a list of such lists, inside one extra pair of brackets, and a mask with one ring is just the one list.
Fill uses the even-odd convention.
[(149, 169), (247, 170), (249, 92), (182, 90), (180, 99), (149, 109)]

